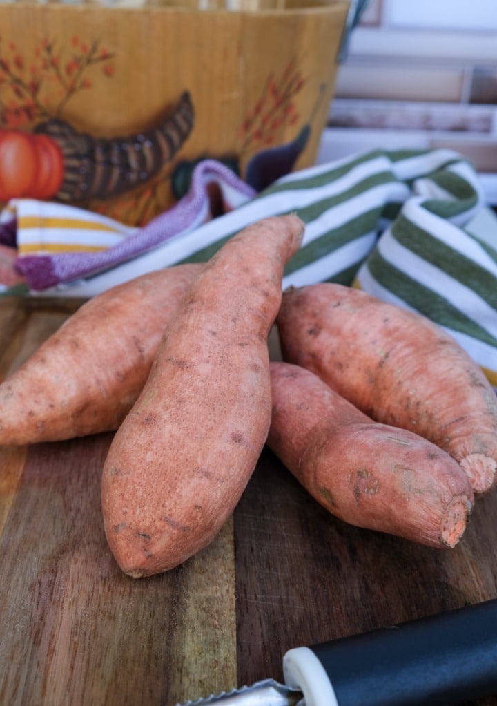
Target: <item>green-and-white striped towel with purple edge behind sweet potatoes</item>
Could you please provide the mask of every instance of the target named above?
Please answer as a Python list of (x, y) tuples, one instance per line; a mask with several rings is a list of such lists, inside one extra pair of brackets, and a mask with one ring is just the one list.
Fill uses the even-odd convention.
[[(213, 182), (223, 194), (218, 217)], [(251, 222), (294, 212), (306, 231), (283, 287), (340, 282), (419, 311), (497, 384), (497, 230), (481, 240), (467, 229), (484, 205), (477, 174), (451, 150), (374, 150), (293, 172), (258, 194), (205, 160), (187, 196), (142, 229), (116, 224), (118, 241), (102, 241), (102, 251), (54, 252), (40, 235), (36, 252), (23, 251), (20, 218), (16, 266), (32, 290), (90, 297), (147, 271), (207, 261)]]

